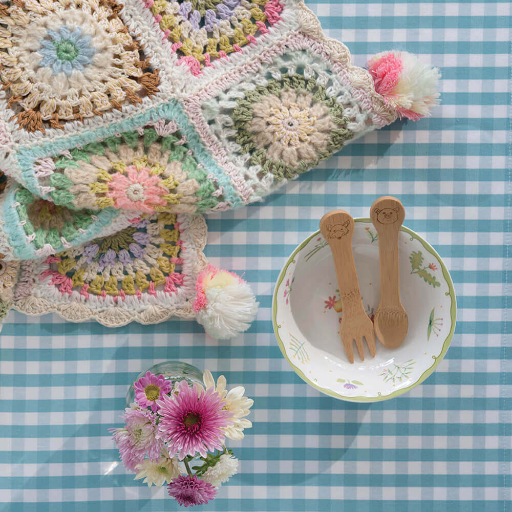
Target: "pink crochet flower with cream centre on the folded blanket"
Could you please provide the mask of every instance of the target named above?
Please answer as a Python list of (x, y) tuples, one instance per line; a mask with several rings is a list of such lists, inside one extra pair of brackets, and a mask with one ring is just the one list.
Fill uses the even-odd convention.
[(106, 196), (114, 200), (116, 208), (152, 214), (155, 212), (156, 205), (167, 204), (162, 198), (166, 191), (158, 186), (159, 182), (158, 176), (150, 175), (150, 169), (146, 167), (137, 169), (135, 165), (130, 165), (126, 167), (125, 173), (116, 173), (111, 176)]

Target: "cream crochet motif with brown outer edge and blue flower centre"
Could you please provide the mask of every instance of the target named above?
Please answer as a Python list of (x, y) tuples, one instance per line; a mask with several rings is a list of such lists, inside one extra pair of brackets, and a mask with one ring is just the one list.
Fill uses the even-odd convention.
[(62, 129), (158, 91), (159, 71), (121, 22), (121, 9), (115, 0), (0, 7), (0, 79), (19, 129)]

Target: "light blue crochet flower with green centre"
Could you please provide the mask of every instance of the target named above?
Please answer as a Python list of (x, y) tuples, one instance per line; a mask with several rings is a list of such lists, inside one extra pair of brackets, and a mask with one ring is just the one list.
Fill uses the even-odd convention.
[(39, 66), (52, 68), (54, 75), (63, 72), (70, 76), (74, 69), (83, 71), (92, 62), (96, 50), (91, 47), (91, 36), (82, 35), (80, 27), (71, 32), (62, 25), (58, 32), (48, 31), (49, 39), (41, 40), (38, 50), (43, 57)]

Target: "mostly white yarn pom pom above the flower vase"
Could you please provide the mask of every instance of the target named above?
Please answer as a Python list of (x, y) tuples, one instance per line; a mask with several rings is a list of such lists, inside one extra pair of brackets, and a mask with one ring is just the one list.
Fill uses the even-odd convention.
[(208, 265), (196, 281), (194, 311), (207, 334), (226, 339), (249, 328), (258, 303), (237, 274)]

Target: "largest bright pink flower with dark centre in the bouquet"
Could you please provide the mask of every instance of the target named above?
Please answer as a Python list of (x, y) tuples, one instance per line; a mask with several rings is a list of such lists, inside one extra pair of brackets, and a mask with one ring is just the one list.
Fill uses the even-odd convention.
[(233, 413), (223, 409), (222, 398), (214, 388), (199, 390), (196, 384), (190, 388), (182, 380), (175, 396), (164, 395), (157, 403), (159, 437), (168, 443), (170, 457), (178, 452), (180, 460), (197, 452), (206, 457), (207, 451), (222, 450), (222, 429), (232, 424)]

